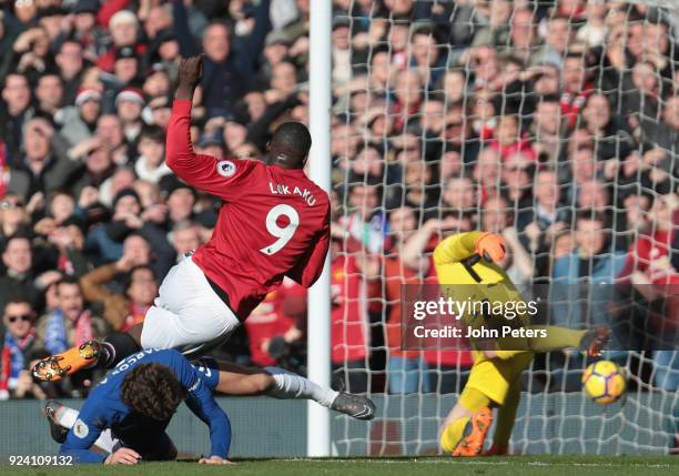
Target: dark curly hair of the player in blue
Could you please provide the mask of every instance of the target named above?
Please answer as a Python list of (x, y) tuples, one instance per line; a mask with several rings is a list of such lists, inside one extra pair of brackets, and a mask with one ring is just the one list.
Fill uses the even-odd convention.
[(186, 398), (176, 374), (159, 363), (141, 364), (122, 382), (121, 398), (133, 412), (158, 422), (172, 417)]

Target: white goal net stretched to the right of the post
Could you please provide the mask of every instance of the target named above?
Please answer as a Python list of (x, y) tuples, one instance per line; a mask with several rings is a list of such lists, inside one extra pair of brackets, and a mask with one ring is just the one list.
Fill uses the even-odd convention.
[[(334, 417), (334, 450), (437, 452), (472, 357), (405, 351), (401, 286), (435, 283), (434, 246), (483, 230), (505, 236), (504, 266), (526, 293), (568, 283), (576, 296), (561, 303), (560, 324), (627, 328), (606, 356), (628, 379), (611, 405), (581, 391), (591, 361), (536, 355), (521, 377), (511, 452), (670, 452), (679, 416), (675, 2), (334, 6), (333, 375), (379, 407), (369, 425)], [(607, 305), (591, 304), (596, 286), (614, 296)]]

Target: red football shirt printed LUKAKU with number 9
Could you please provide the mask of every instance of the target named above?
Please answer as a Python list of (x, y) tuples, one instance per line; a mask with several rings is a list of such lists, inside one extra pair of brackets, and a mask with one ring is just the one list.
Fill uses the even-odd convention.
[(168, 166), (223, 201), (212, 237), (193, 261), (244, 320), (284, 276), (305, 287), (318, 278), (330, 244), (330, 199), (303, 170), (194, 153), (190, 124), (191, 101), (175, 100)]

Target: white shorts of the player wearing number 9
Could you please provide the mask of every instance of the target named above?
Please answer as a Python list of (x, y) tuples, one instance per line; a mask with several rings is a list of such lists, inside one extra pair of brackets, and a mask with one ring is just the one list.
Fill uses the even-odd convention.
[(227, 341), (240, 325), (189, 255), (163, 280), (146, 312), (141, 344), (143, 348), (176, 348), (195, 357)]

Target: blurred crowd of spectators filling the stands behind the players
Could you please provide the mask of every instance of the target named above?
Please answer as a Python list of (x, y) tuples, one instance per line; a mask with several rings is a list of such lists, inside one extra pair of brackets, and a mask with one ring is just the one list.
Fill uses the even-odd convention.
[[(143, 320), (210, 236), (219, 203), (164, 164), (182, 55), (205, 54), (199, 152), (261, 160), (277, 124), (307, 122), (310, 3), (0, 0), (1, 397), (87, 394), (95, 376), (37, 385), (27, 368)], [(401, 285), (434, 282), (432, 251), (454, 232), (501, 233), (525, 288), (618, 284), (641, 318), (660, 308), (677, 330), (670, 16), (605, 0), (334, 7), (332, 361), (349, 391), (462, 388), (468, 352), (399, 340)], [(305, 298), (286, 281), (221, 357), (303, 368)], [(643, 363), (647, 384), (677, 389), (676, 352)]]

